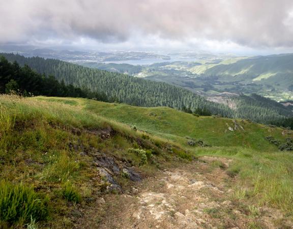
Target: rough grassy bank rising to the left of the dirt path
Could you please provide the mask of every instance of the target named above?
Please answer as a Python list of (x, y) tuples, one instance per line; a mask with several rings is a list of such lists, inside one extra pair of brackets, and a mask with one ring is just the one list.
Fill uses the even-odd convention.
[[(103, 193), (103, 181), (93, 163), (97, 152), (115, 156), (130, 165), (138, 165), (141, 155), (128, 152), (128, 149), (143, 152), (150, 162), (139, 167), (144, 176), (154, 174), (158, 164), (163, 167), (176, 161), (172, 160), (172, 153), (165, 150), (166, 145), (179, 148), (176, 144), (171, 145), (168, 140), (147, 136), (128, 125), (83, 110), (79, 100), (68, 100), (71, 102), (64, 102), (62, 98), (48, 102), (45, 99), (0, 96), (0, 123), (3, 127), (0, 137), (0, 176), (3, 180), (13, 181), (16, 187), (28, 187), (25, 190), (30, 190), (27, 192), (33, 197), (48, 196), (51, 199), (46, 202), (48, 217), (39, 214), (38, 218), (34, 212), (24, 213), (25, 216), (15, 219), (10, 215), (2, 216), (0, 227), (13, 223), (31, 228), (48, 225), (62, 228), (65, 224), (66, 227), (72, 227), (71, 220), (64, 218), (69, 217), (72, 211), (73, 205), (68, 202), (88, 208), (86, 199), (95, 201)], [(114, 132), (114, 136), (102, 139), (99, 131), (107, 128)], [(129, 179), (125, 179), (121, 184), (127, 189), (131, 187), (129, 182)], [(14, 190), (9, 183), (3, 183), (3, 186)], [(23, 198), (19, 201), (24, 203)], [(40, 222), (47, 218), (48, 222)]]

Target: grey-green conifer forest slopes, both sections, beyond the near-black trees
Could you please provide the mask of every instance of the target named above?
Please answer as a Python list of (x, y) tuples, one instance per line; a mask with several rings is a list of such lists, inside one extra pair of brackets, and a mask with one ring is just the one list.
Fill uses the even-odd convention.
[(105, 95), (103, 98), (107, 98), (107, 101), (145, 107), (167, 106), (187, 112), (199, 112), (199, 115), (202, 114), (200, 110), (208, 110), (212, 115), (250, 119), (259, 123), (275, 123), (292, 116), (290, 107), (258, 95), (231, 97), (221, 104), (165, 82), (145, 80), (53, 59), (25, 58), (7, 53), (4, 53), (4, 56), (9, 61), (28, 65), (41, 74), (53, 75), (65, 84)]

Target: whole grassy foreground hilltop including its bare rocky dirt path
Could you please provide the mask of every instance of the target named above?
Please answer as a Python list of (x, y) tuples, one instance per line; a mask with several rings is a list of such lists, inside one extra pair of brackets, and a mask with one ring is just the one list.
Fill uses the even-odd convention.
[(292, 225), (293, 155), (276, 146), (290, 130), (79, 98), (0, 104), (0, 207), (38, 199), (2, 227)]

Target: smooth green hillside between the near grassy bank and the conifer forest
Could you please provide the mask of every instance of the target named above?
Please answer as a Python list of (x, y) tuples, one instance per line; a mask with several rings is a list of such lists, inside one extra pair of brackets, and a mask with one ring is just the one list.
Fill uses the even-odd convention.
[[(127, 104), (105, 103), (86, 99), (57, 99), (38, 97), (39, 100), (67, 102), (74, 101), (83, 110), (91, 111), (109, 119), (136, 126), (139, 130), (175, 141), (188, 147), (186, 137), (203, 140), (210, 146), (246, 147), (254, 150), (276, 150), (265, 139), (268, 135), (283, 138), (282, 132), (291, 133), (281, 128), (251, 123), (246, 120), (195, 117), (189, 113), (168, 107), (136, 107)], [(239, 128), (230, 131), (229, 127)], [(242, 126), (244, 130), (240, 127)], [(221, 137), (219, 137), (221, 136)], [(290, 136), (290, 134), (288, 135)]]

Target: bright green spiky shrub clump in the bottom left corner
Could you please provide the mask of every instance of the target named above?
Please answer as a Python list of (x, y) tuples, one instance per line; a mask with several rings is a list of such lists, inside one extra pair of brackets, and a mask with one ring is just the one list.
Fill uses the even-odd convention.
[(0, 221), (23, 224), (44, 220), (48, 216), (48, 197), (36, 193), (33, 187), (0, 182)]

